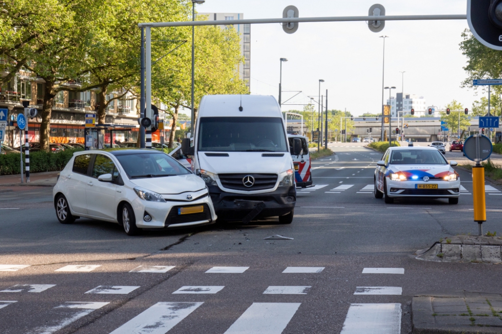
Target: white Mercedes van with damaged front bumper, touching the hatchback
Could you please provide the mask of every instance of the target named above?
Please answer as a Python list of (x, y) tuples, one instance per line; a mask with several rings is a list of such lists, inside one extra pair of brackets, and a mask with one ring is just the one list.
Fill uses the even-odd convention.
[[(218, 217), (241, 220), (279, 217), (290, 224), (296, 203), (292, 153), (281, 109), (273, 96), (208, 95), (200, 101), (193, 145), (192, 171), (209, 189)], [(291, 152), (291, 153), (290, 153)]]

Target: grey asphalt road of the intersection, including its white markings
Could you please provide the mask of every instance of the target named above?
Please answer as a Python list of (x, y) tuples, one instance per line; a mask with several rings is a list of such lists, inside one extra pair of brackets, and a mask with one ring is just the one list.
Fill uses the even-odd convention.
[[(59, 224), (50, 188), (0, 192), (0, 333), (340, 333), (344, 323), (343, 334), (409, 333), (415, 294), (500, 293), (499, 265), (413, 257), (442, 237), (477, 233), (469, 173), (458, 171), (458, 205), (386, 205), (372, 194), (382, 154), (357, 143), (332, 149), (313, 162), (315, 187), (298, 191), (291, 225), (128, 237), (87, 219)], [(502, 232), (502, 192), (487, 185), (484, 230)], [(273, 235), (293, 240), (264, 239)]]

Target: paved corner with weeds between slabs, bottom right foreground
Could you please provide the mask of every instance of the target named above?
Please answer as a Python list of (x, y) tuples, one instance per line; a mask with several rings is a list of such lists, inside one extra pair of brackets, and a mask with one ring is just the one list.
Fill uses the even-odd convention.
[(502, 294), (427, 293), (413, 297), (413, 333), (502, 333)]

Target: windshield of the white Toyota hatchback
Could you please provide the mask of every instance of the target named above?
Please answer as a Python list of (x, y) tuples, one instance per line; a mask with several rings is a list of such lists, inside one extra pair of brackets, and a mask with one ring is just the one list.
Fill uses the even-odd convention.
[(116, 155), (129, 179), (161, 178), (186, 175), (190, 172), (178, 161), (164, 153), (134, 153)]

